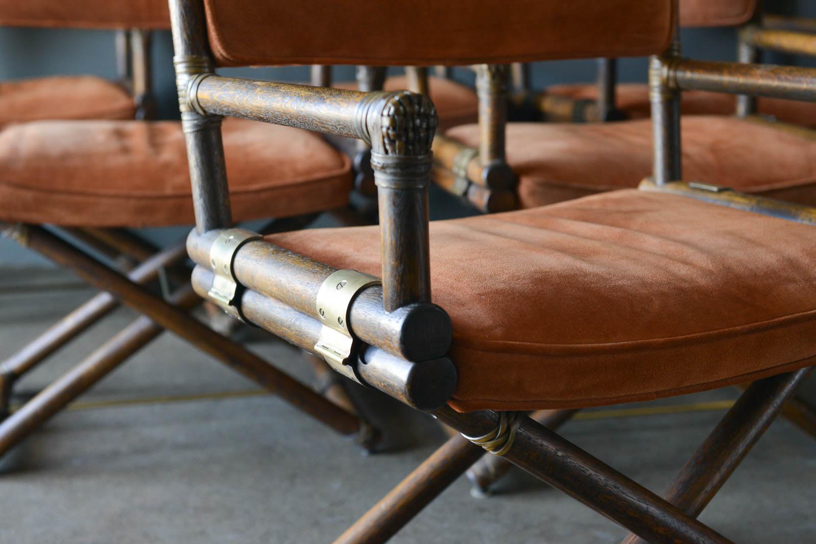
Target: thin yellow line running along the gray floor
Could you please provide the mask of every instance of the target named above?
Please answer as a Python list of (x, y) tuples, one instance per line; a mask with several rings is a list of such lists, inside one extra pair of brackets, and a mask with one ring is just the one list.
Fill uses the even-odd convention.
[[(200, 393), (195, 395), (167, 395), (164, 397), (142, 397), (109, 401), (74, 402), (67, 410), (99, 410), (118, 406), (145, 406), (151, 404), (166, 404), (171, 402), (218, 401), (231, 398), (261, 397), (269, 393), (263, 389), (247, 389), (243, 391), (223, 391), (219, 393)], [(729, 410), (734, 401), (707, 401), (691, 402), (689, 404), (674, 404), (668, 406), (641, 406), (636, 408), (605, 408), (600, 410), (585, 410), (574, 416), (574, 419), (614, 419), (633, 418), (645, 415), (682, 414), (685, 412), (706, 412)], [(16, 408), (16, 407), (15, 407)]]

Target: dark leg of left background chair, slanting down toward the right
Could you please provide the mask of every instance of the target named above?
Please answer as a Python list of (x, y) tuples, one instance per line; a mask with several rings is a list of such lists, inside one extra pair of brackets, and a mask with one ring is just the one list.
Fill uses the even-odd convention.
[(174, 332), (205, 353), (210, 353), (235, 371), (254, 380), (268, 391), (279, 395), (293, 406), (313, 415), (338, 432), (353, 434), (359, 430), (356, 417), (327, 401), (289, 375), (278, 371), (274, 366), (235, 344), (232, 340), (215, 333), (201, 322), (191, 318), (183, 310), (163, 301), (144, 287), (132, 283), (122, 274), (72, 248), (68, 243), (49, 234), (46, 230), (36, 226), (24, 228), (27, 230), (29, 248), (73, 270), (87, 283), (91, 283), (100, 290), (116, 294), (124, 304), (149, 316), (161, 327)]

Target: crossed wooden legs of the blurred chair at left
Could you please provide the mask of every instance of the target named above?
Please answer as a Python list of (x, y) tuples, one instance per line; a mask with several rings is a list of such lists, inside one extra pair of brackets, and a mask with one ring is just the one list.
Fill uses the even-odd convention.
[[(301, 222), (299, 219), (277, 220), (264, 230), (290, 230), (302, 226)], [(91, 245), (95, 250), (108, 257), (116, 257), (126, 269), (130, 269), (125, 276), (42, 227), (0, 227), (3, 234), (10, 235), (24, 246), (74, 270), (88, 283), (103, 290), (0, 364), (0, 455), (108, 375), (133, 353), (149, 344), (165, 329), (174, 331), (202, 351), (255, 380), (268, 391), (280, 395), (335, 431), (344, 435), (356, 433), (361, 445), (367, 450), (374, 447), (379, 432), (357, 416), (356, 406), (349, 399), (343, 384), (326, 381), (325, 363), (310, 358), (318, 379), (322, 378), (326, 382), (326, 397), (331, 400), (278, 371), (241, 345), (211, 331), (188, 314), (188, 310), (200, 304), (202, 299), (190, 287), (188, 271), (181, 270), (178, 265), (186, 257), (184, 244), (156, 252), (149, 243), (125, 231), (69, 230), (70, 235)], [(141, 264), (135, 265), (139, 261)], [(171, 293), (166, 301), (140, 285), (149, 283), (165, 271), (184, 286)], [(11, 393), (16, 380), (109, 314), (120, 300), (144, 315), (9, 414)]]

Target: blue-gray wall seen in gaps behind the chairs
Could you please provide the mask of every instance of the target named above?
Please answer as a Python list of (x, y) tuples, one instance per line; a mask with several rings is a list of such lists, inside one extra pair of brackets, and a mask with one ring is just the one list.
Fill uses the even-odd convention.
[[(806, 0), (771, 2), (774, 11), (816, 16), (816, 6)], [(734, 29), (692, 29), (683, 33), (684, 50), (698, 59), (734, 59)], [(153, 42), (153, 73), (157, 93), (158, 112), (163, 119), (178, 117), (175, 103), (175, 86), (171, 65), (172, 44), (170, 34), (156, 33)], [(774, 60), (774, 59), (771, 59)], [(790, 61), (791, 59), (777, 59)], [(532, 82), (537, 88), (554, 83), (591, 81), (594, 62), (563, 61), (534, 64)], [(621, 81), (645, 81), (645, 59), (623, 59), (620, 63)], [(263, 68), (225, 70), (233, 75), (258, 77), (277, 81), (305, 81), (308, 68)], [(86, 30), (13, 29), (0, 28), (0, 80), (38, 77), (48, 74), (95, 74), (113, 78), (116, 66), (113, 58), (113, 33)], [(459, 70), (457, 77), (472, 82), (472, 75)], [(335, 72), (336, 81), (353, 79), (353, 68), (345, 67)], [(435, 209), (441, 215), (464, 213), (457, 203), (446, 195), (434, 195)], [(2, 203), (0, 203), (2, 206)], [(166, 242), (179, 239), (185, 229), (146, 230), (151, 239)], [(0, 239), (0, 265), (30, 266), (47, 265), (47, 262), (16, 247), (6, 239)]]

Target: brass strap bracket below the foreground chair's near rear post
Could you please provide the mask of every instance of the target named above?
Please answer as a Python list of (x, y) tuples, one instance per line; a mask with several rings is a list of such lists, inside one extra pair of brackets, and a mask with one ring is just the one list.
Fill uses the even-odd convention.
[(218, 235), (210, 248), (210, 265), (215, 273), (215, 279), (207, 296), (227, 314), (242, 321), (246, 320), (239, 306), (241, 286), (235, 278), (233, 261), (243, 244), (259, 239), (262, 237), (251, 230), (226, 229)]

